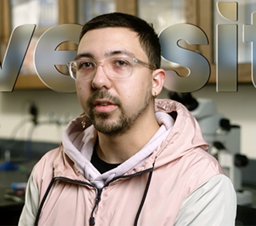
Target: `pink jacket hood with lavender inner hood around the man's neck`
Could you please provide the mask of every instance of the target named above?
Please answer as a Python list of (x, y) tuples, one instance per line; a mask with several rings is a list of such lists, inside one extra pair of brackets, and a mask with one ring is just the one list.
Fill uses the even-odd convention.
[(103, 175), (100, 175), (90, 163), (97, 131), (87, 117), (84, 117), (84, 129), (81, 126), (83, 116), (77, 117), (67, 126), (62, 138), (64, 152), (88, 180), (102, 186), (102, 182), (106, 183), (119, 175), (131, 175), (147, 170), (152, 168), (153, 164), (154, 168), (163, 166), (196, 147), (201, 147), (205, 151), (208, 149), (198, 122), (184, 105), (173, 100), (156, 99), (155, 111), (160, 125), (157, 133), (137, 154)]

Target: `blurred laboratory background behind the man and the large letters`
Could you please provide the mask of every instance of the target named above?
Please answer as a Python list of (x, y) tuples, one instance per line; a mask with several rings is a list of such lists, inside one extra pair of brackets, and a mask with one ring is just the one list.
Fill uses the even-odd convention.
[[(0, 225), (17, 225), (24, 204), (25, 185), (32, 167), (44, 153), (58, 147), (65, 126), (82, 113), (76, 93), (55, 91), (44, 84), (37, 75), (34, 65), (37, 42), (44, 32), (53, 26), (65, 23), (83, 25), (97, 15), (114, 11), (138, 15), (152, 23), (158, 33), (170, 25), (179, 23), (196, 25), (203, 30), (208, 44), (189, 44), (184, 40), (177, 44), (180, 48), (199, 53), (208, 60), (211, 69), (208, 83), (190, 93), (164, 88), (158, 98), (172, 98), (184, 103), (191, 110), (210, 144), (209, 152), (217, 157), (232, 180), (238, 204), (256, 208), (256, 86), (253, 84), (256, 81), (253, 82), (252, 78), (252, 42), (245, 42), (243, 39), (244, 25), (253, 23), (252, 14), (256, 11), (256, 0), (237, 0), (237, 4), (226, 0), (222, 1), (222, 5), (218, 2), (0, 1), (1, 70), (4, 68), (4, 57), (12, 30), (19, 25), (36, 24), (13, 91), (0, 90)], [(234, 14), (236, 17), (233, 17)], [(236, 90), (232, 91), (218, 90), (220, 84), (217, 79), (217, 43), (219, 28), (222, 25), (237, 28), (233, 33), (237, 39), (232, 39), (234, 36), (231, 36), (238, 50), (238, 67), (234, 68), (238, 78), (235, 77)], [(74, 42), (62, 43), (57, 51), (76, 50), (76, 47)], [(232, 57), (232, 53), (230, 56)], [(42, 56), (42, 61), (44, 57), (46, 56)], [(162, 67), (165, 70), (175, 70), (183, 77), (189, 74), (189, 69), (184, 65), (165, 58)], [(67, 74), (65, 65), (57, 65), (56, 69)]]

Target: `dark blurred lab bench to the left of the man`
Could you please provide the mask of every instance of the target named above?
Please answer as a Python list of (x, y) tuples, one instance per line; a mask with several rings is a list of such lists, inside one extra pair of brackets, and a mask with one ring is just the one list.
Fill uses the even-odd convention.
[(17, 226), (24, 206), (24, 194), (16, 195), (11, 189), (13, 182), (27, 182), (34, 164), (48, 150), (58, 145), (58, 143), (0, 139), (0, 166), (6, 163), (4, 159), (6, 150), (10, 152), (10, 162), (18, 166), (18, 170), (0, 170), (0, 225)]

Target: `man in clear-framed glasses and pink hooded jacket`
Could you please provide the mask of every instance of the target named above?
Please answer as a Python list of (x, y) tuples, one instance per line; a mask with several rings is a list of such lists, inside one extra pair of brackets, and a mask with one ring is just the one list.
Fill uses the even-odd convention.
[(236, 195), (199, 125), (172, 100), (158, 36), (100, 15), (68, 63), (84, 114), (34, 167), (19, 225), (234, 225)]

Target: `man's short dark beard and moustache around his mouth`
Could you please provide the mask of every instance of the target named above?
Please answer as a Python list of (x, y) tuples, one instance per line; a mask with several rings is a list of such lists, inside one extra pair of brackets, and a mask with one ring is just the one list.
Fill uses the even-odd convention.
[[(111, 117), (112, 112), (101, 113), (94, 110), (95, 100), (105, 98), (118, 106), (120, 114), (116, 121), (109, 122), (107, 119)], [(148, 87), (145, 95), (145, 102), (140, 109), (128, 116), (118, 97), (112, 96), (107, 90), (96, 90), (88, 99), (87, 107), (89, 109), (88, 117), (97, 131), (108, 136), (117, 136), (130, 130), (136, 121), (149, 108), (151, 102), (151, 89)], [(96, 119), (97, 117), (97, 119)]]

